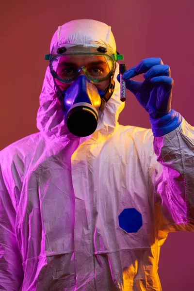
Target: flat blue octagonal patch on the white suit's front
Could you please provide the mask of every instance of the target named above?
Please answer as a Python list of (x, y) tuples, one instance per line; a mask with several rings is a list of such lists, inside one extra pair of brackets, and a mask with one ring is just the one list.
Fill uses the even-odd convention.
[(143, 225), (142, 214), (135, 208), (126, 208), (118, 216), (119, 226), (126, 232), (137, 232)]

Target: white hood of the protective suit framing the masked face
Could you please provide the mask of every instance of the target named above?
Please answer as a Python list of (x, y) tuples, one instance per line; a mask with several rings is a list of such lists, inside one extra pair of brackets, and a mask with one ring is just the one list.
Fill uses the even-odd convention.
[[(116, 52), (116, 44), (111, 26), (92, 19), (72, 20), (59, 26), (52, 37), (50, 52), (53, 47), (60, 44), (104, 44), (110, 46), (113, 53)], [(105, 103), (104, 110), (99, 115), (97, 129), (92, 134), (94, 139), (113, 134), (118, 126), (118, 116), (124, 108), (124, 102), (120, 101), (120, 84), (116, 80), (118, 73), (119, 64), (116, 63), (113, 78), (115, 81), (115, 89), (112, 97)], [(54, 81), (49, 66), (46, 70), (42, 92), (40, 94), (37, 128), (43, 133), (45, 138), (60, 138), (60, 140), (64, 138), (79, 138), (67, 129), (64, 113), (62, 112), (61, 105), (54, 90)], [(90, 137), (91, 135), (84, 138), (84, 140)]]

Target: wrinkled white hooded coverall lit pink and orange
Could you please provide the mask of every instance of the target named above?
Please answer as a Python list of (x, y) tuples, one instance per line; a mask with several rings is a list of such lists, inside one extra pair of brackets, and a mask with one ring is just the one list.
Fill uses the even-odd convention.
[[(116, 49), (111, 28), (88, 19), (61, 26), (51, 47), (59, 41)], [(162, 290), (161, 245), (169, 231), (194, 230), (194, 128), (183, 118), (154, 138), (119, 125), (117, 72), (97, 130), (78, 138), (48, 68), (40, 131), (0, 152), (0, 291)], [(128, 212), (130, 232), (124, 210), (139, 213)]]

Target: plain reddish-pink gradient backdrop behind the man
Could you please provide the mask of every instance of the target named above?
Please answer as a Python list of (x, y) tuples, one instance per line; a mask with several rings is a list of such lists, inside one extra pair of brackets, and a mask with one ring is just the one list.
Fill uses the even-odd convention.
[[(174, 79), (172, 107), (193, 124), (194, 1), (24, 1), (1, 3), (0, 149), (36, 129), (51, 37), (72, 19), (90, 18), (112, 26), (127, 69), (160, 57)], [(137, 80), (142, 80), (139, 77)], [(123, 125), (150, 128), (147, 113), (128, 91)], [(194, 234), (170, 233), (161, 249), (163, 291), (194, 291)]]

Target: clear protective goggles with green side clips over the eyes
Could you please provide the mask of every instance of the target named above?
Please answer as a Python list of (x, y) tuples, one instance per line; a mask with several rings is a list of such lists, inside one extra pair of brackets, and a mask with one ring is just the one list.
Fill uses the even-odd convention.
[(110, 47), (99, 44), (63, 44), (45, 56), (45, 60), (50, 62), (52, 76), (64, 83), (76, 80), (81, 70), (90, 81), (104, 81), (112, 76), (115, 61), (123, 59), (123, 55), (118, 52), (113, 54)]

